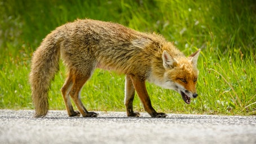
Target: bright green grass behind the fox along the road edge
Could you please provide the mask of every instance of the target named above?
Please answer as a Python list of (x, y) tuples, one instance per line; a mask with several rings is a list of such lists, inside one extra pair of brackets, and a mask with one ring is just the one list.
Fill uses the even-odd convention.
[[(76, 19), (113, 21), (160, 33), (186, 55), (201, 48), (199, 97), (187, 105), (174, 91), (147, 83), (153, 107), (165, 113), (256, 114), (256, 4), (251, 1), (1, 1), (0, 109), (33, 109), (32, 53), (56, 26)], [(50, 109), (64, 110), (65, 69), (51, 84)], [(125, 111), (124, 75), (96, 70), (82, 91), (89, 110)], [(138, 97), (134, 109), (143, 111)]]

